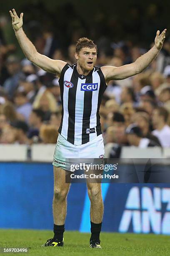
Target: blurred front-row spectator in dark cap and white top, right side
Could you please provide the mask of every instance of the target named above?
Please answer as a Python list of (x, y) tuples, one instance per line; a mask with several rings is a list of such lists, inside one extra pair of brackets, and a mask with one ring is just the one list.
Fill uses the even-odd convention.
[(131, 146), (136, 146), (138, 148), (158, 146), (155, 141), (151, 141), (148, 138), (143, 138), (143, 133), (136, 124), (129, 125), (126, 128), (125, 133), (127, 134), (127, 139)]

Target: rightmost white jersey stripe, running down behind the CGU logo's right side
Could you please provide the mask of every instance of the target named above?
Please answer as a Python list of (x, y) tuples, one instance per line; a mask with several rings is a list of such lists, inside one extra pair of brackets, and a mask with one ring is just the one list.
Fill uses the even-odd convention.
[[(98, 94), (99, 94), (99, 89), (100, 89), (100, 76), (97, 73), (97, 71), (92, 72), (92, 81), (95, 81), (95, 83), (98, 83), (98, 89), (97, 91), (92, 92), (92, 112), (90, 115), (90, 128), (94, 128), (97, 125), (97, 105), (98, 105)], [(94, 82), (93, 82), (94, 83)], [(97, 137), (97, 133), (90, 133), (90, 141)]]

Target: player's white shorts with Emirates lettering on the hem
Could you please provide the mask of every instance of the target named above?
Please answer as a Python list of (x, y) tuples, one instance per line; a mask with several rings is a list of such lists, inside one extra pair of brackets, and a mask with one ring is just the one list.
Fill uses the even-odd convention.
[(81, 161), (78, 159), (103, 159), (104, 157), (105, 148), (102, 134), (85, 144), (73, 145), (59, 133), (52, 164), (70, 171), (67, 159), (76, 159), (76, 164), (79, 164)]

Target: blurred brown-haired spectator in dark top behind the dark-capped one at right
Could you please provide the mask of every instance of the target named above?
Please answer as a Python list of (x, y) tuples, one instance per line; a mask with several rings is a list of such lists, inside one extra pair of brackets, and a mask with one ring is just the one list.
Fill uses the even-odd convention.
[(137, 112), (133, 115), (133, 123), (135, 123), (142, 131), (143, 137), (155, 141), (158, 146), (161, 146), (159, 139), (150, 131), (150, 117), (145, 112)]

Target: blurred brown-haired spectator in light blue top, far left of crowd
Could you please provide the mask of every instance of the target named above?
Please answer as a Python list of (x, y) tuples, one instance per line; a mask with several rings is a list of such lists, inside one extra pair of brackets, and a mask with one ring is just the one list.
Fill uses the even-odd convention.
[(28, 118), (32, 110), (32, 104), (28, 102), (26, 92), (16, 92), (14, 96), (16, 111), (23, 116), (23, 120), (28, 123)]

